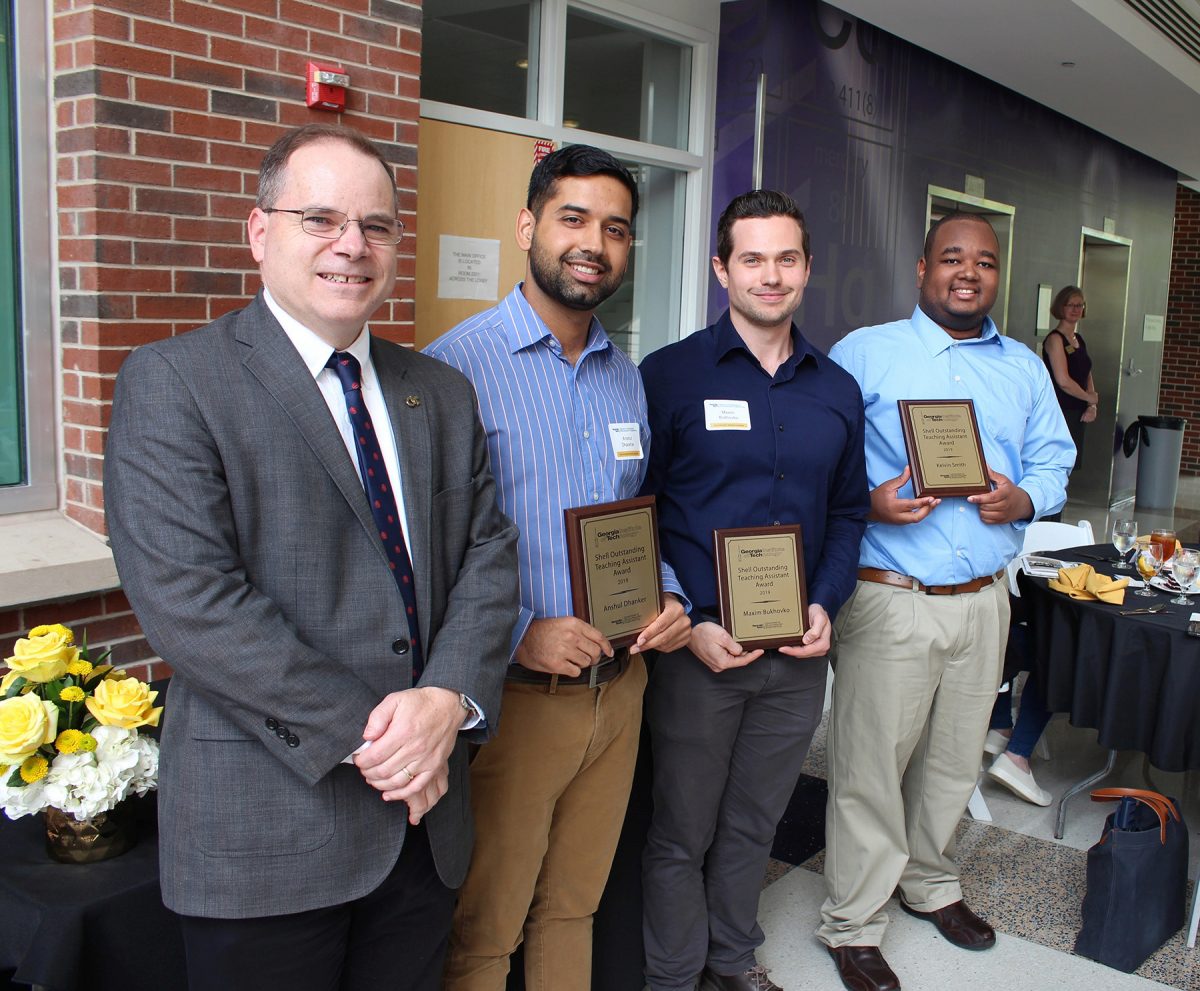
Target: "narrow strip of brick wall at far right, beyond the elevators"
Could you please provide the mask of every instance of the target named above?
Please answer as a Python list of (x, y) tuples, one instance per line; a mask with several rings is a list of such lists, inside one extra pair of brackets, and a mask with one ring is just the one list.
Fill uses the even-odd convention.
[(1158, 409), (1188, 420), (1180, 472), (1200, 475), (1200, 193), (1180, 186)]

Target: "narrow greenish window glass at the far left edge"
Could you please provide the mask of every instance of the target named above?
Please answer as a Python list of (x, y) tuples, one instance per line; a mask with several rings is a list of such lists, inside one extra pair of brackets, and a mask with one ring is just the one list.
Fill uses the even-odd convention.
[[(17, 330), (17, 161), (12, 136), (12, 5), (0, 2), (0, 485), (24, 481)], [(47, 385), (49, 388), (49, 385)]]

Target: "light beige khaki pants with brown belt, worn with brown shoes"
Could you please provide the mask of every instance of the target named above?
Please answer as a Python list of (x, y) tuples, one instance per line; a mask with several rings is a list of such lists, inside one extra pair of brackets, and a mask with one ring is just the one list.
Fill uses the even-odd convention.
[(835, 624), (826, 884), (817, 937), (878, 945), (896, 885), (962, 897), (954, 830), (979, 774), (1008, 637), (1003, 581), (964, 595), (859, 582)]

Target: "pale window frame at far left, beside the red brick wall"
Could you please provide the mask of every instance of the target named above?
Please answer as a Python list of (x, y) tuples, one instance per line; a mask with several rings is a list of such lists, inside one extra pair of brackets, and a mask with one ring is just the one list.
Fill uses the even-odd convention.
[(59, 506), (58, 320), (54, 214), (50, 210), (50, 59), (46, 4), (13, 2), (16, 61), (12, 110), (17, 120), (17, 265), (19, 346), (24, 388), (25, 481), (0, 487), (0, 515)]

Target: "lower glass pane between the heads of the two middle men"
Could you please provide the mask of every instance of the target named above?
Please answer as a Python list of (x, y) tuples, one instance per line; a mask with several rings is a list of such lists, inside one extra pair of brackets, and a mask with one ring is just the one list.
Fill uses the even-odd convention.
[(656, 166), (624, 164), (637, 179), (641, 198), (634, 251), (625, 281), (596, 316), (613, 342), (637, 362), (679, 337), (686, 178)]

